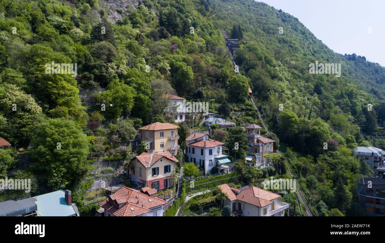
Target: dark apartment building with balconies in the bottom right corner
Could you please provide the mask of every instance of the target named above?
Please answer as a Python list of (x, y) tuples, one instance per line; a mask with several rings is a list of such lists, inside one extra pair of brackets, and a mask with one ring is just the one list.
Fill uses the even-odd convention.
[(385, 216), (385, 176), (359, 178), (358, 203), (366, 216)]

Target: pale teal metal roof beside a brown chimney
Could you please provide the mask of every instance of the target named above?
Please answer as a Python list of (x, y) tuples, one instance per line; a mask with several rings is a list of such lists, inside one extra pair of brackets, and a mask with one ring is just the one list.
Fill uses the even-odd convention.
[(63, 190), (42, 194), (33, 198), (37, 199), (36, 213), (39, 216), (79, 216), (73, 205), (68, 205), (64, 198)]

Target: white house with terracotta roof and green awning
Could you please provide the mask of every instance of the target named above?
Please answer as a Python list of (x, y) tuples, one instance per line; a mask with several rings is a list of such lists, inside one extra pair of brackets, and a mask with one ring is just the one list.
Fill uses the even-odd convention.
[(223, 142), (208, 138), (207, 134), (191, 134), (186, 138), (186, 156), (188, 162), (194, 163), (199, 169), (208, 173), (214, 167), (227, 171), (231, 163), (227, 158), (228, 148)]

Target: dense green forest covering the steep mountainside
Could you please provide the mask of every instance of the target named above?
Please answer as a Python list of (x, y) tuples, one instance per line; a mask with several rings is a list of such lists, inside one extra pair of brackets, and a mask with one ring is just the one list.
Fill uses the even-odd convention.
[[(279, 137), (314, 210), (362, 213), (355, 189), (358, 178), (372, 172), (352, 149), (385, 148), (373, 138), (385, 121), (384, 67), (363, 54), (336, 54), (297, 18), (261, 2), (117, 5), (0, 0), (0, 137), (31, 146), (35, 161), (18, 173), (32, 173), (51, 189), (77, 188), (81, 198), (90, 158), (124, 158), (131, 147), (120, 142), (133, 139), (141, 125), (167, 120), (164, 94), (209, 102), (210, 111), (237, 126), (260, 124), (246, 99), (249, 85), (269, 136)], [(234, 72), (222, 30), (240, 39), (234, 60), (243, 75)], [(340, 63), (341, 77), (309, 74), (316, 61)], [(76, 77), (47, 73), (52, 62), (77, 64)], [(218, 140), (228, 135), (231, 145), (238, 133), (214, 134)], [(57, 141), (68, 149), (58, 151)], [(236, 157), (242, 160), (246, 150)], [(17, 167), (15, 151), (0, 158), (0, 176)]]

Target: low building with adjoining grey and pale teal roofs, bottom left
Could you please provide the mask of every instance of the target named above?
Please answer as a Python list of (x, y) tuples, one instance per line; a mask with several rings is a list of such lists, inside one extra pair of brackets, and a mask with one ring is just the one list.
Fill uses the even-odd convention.
[(80, 216), (70, 190), (0, 203), (0, 216)]

